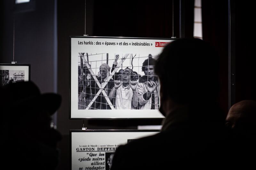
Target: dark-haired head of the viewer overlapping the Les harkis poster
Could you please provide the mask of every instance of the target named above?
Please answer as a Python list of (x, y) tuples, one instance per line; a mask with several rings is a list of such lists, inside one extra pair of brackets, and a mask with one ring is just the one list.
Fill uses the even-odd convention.
[(219, 92), (218, 55), (200, 39), (180, 39), (168, 44), (156, 61), (161, 98), (178, 104), (216, 100)]

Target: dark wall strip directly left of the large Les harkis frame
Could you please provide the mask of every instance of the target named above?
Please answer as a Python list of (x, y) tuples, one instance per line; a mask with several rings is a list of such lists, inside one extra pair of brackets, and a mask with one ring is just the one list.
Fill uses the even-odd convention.
[(62, 104), (58, 111), (58, 130), (81, 129), (81, 120), (69, 120), (69, 36), (84, 34), (84, 1), (58, 1), (58, 93)]

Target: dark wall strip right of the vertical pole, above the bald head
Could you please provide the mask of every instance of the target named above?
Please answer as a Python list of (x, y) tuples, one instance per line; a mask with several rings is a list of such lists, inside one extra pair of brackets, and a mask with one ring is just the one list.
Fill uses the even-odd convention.
[(235, 66), (236, 102), (256, 100), (255, 6), (234, 1), (235, 5)]

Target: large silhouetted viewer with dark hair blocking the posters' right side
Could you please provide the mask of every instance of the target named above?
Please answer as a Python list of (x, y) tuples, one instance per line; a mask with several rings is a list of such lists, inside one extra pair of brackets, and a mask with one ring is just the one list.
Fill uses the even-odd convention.
[(166, 117), (162, 131), (117, 148), (111, 170), (220, 167), (227, 154), (216, 52), (200, 39), (175, 40), (163, 49), (155, 71)]

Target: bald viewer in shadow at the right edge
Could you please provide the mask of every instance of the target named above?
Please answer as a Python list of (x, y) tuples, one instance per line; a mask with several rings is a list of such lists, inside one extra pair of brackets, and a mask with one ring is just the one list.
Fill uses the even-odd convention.
[(256, 101), (243, 100), (234, 104), (228, 111), (226, 126), (230, 141), (226, 151), (230, 153), (230, 168), (255, 167), (256, 160)]

